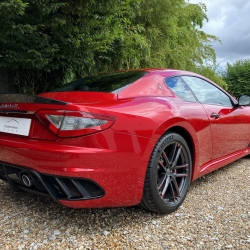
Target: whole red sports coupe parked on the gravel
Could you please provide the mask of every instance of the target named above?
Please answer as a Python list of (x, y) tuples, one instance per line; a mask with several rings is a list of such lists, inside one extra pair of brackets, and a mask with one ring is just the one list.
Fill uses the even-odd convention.
[(0, 95), (0, 179), (73, 208), (171, 213), (190, 182), (249, 154), (250, 97), (187, 71), (87, 76)]

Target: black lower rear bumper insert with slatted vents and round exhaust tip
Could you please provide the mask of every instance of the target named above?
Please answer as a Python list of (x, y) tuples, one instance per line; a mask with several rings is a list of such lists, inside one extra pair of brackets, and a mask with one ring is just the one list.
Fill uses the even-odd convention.
[(28, 191), (55, 201), (81, 201), (105, 195), (98, 184), (88, 179), (44, 175), (4, 162), (0, 162), (0, 179), (8, 182), (15, 191)]

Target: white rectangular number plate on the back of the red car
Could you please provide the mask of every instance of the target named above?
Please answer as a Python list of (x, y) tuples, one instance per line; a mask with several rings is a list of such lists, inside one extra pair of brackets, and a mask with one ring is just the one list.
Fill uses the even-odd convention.
[(0, 132), (25, 135), (30, 132), (31, 119), (17, 117), (0, 117)]

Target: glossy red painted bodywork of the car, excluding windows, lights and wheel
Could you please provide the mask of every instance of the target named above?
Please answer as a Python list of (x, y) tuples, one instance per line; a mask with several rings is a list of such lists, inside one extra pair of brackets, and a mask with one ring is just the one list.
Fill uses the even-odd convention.
[[(40, 96), (66, 101), (68, 105), (20, 103), (20, 109), (33, 112), (54, 109), (109, 115), (115, 117), (115, 123), (95, 134), (59, 138), (35, 115), (27, 115), (33, 119), (29, 137), (2, 133), (0, 161), (40, 173), (94, 180), (105, 190), (103, 198), (59, 201), (65, 206), (83, 208), (138, 204), (152, 150), (168, 130), (182, 129), (190, 137), (192, 180), (249, 154), (249, 108), (182, 101), (167, 88), (164, 79), (171, 75), (196, 74), (160, 69), (147, 71), (148, 75), (119, 94), (43, 93)], [(212, 112), (220, 114), (221, 118), (210, 118)]]

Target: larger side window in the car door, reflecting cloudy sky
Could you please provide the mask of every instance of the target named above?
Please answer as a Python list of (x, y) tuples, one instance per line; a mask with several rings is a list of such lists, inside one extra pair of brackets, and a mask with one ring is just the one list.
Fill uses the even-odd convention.
[(193, 76), (182, 76), (196, 95), (199, 102), (232, 107), (230, 98), (213, 84)]

